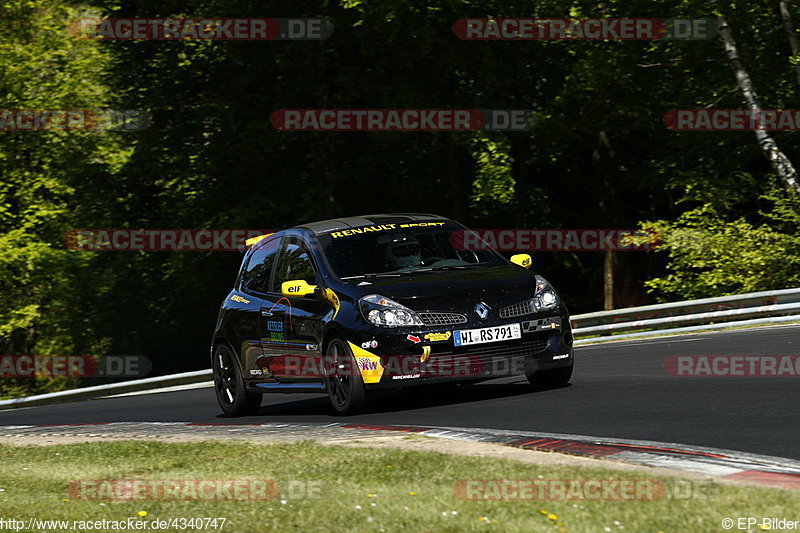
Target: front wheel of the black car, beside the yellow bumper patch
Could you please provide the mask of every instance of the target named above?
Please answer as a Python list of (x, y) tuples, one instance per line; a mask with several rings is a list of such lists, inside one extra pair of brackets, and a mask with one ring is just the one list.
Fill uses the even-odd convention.
[(325, 351), (328, 370), (325, 388), (331, 407), (340, 415), (354, 415), (367, 407), (364, 380), (356, 364), (352, 350), (342, 339), (333, 339)]

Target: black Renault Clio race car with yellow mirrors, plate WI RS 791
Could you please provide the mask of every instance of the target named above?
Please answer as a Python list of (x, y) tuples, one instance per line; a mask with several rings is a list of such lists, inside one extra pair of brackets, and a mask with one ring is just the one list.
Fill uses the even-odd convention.
[(555, 289), (461, 224), (385, 214), (314, 222), (247, 241), (211, 345), (226, 416), (265, 392), (327, 393), (354, 414), (389, 387), (524, 375), (569, 382), (573, 339)]

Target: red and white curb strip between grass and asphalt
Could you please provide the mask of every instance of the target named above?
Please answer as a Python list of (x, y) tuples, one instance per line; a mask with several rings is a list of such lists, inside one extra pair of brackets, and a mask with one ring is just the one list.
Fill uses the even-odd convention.
[[(731, 481), (782, 489), (800, 490), (800, 461), (749, 454), (733, 450), (687, 446), (684, 444), (623, 440), (607, 437), (532, 433), (484, 428), (452, 428), (356, 423), (191, 423), (191, 422), (110, 422), (0, 426), (0, 436), (81, 435), (88, 437), (175, 436), (198, 433), (202, 436), (267, 439), (291, 431), (345, 430), (402, 432), (469, 442), (489, 442), (530, 450), (564, 453), (584, 457), (693, 472)], [(130, 438), (130, 437), (129, 437)], [(313, 437), (312, 437), (313, 438)]]

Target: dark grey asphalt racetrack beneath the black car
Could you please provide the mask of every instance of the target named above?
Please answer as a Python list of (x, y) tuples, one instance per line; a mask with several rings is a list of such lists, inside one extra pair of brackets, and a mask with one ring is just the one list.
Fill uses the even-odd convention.
[(673, 377), (673, 355), (800, 355), (800, 326), (576, 348), (572, 384), (523, 379), (384, 392), (363, 415), (333, 416), (327, 397), (265, 394), (258, 416), (220, 417), (212, 388), (0, 411), (0, 425), (88, 422), (354, 422), (616, 437), (800, 459), (800, 377)]

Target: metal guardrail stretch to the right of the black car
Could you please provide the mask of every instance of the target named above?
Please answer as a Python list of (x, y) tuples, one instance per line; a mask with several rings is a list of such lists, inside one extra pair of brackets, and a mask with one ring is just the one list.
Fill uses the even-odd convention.
[(571, 319), (573, 334), (586, 337), (632, 331), (655, 334), (665, 328), (688, 332), (693, 327), (703, 326), (704, 330), (711, 325), (724, 327), (729, 321), (746, 325), (747, 321), (742, 320), (746, 318), (754, 319), (753, 323), (764, 323), (764, 318), (787, 315), (800, 320), (800, 288), (598, 311), (574, 315)]

